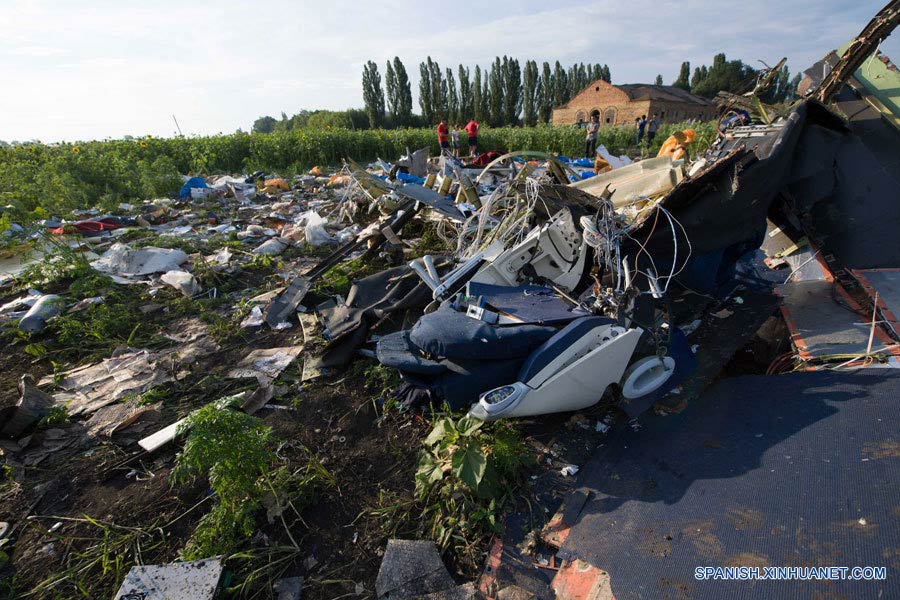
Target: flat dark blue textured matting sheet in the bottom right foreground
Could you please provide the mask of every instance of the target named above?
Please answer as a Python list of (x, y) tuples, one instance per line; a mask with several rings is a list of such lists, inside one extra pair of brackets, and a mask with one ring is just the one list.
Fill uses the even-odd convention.
[[(900, 373), (723, 380), (582, 470), (558, 556), (617, 600), (900, 597)], [(885, 581), (698, 581), (698, 566), (884, 566)]]

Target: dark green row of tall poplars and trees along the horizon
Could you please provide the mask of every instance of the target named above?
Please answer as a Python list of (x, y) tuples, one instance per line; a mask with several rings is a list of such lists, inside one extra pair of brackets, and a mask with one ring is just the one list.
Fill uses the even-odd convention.
[[(714, 97), (719, 91), (742, 93), (753, 86), (760, 71), (741, 60), (727, 60), (716, 54), (712, 65), (696, 67), (683, 62), (672, 85), (698, 96)], [(363, 67), (362, 109), (345, 111), (301, 110), (281, 119), (260, 117), (253, 123), (259, 133), (294, 129), (343, 127), (347, 129), (431, 127), (441, 119), (451, 124), (475, 118), (493, 127), (533, 126), (549, 123), (553, 107), (568, 102), (589, 83), (602, 79), (612, 82), (609, 66), (575, 63), (564, 67), (544, 61), (508, 56), (496, 57), (489, 67), (457, 65), (442, 68), (429, 56), (419, 63), (418, 108), (413, 112), (412, 84), (406, 66), (399, 57), (387, 61), (384, 77), (374, 61)], [(656, 85), (663, 84), (657, 75)], [(778, 72), (773, 86), (761, 100), (769, 104), (794, 97), (800, 75), (790, 77), (787, 65)]]

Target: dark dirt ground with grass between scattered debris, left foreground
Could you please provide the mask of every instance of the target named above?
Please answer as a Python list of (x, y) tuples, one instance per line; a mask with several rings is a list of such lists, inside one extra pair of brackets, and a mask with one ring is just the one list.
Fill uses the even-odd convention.
[[(256, 389), (255, 380), (226, 377), (251, 350), (304, 343), (297, 325), (286, 331), (240, 330), (238, 322), (249, 310), (241, 299), (284, 285), (317, 255), (321, 252), (291, 248), (271, 263), (247, 266), (244, 259), (243, 269), (209, 274), (201, 283), (218, 288), (216, 300), (186, 302), (167, 289), (151, 297), (144, 285), (101, 290), (104, 296), (124, 298), (123, 312), (114, 316), (125, 322), (100, 326), (109, 326), (111, 333), (104, 333), (124, 341), (138, 325), (133, 347), (176, 347), (178, 342), (163, 336), (198, 321), (210, 335), (224, 331), (225, 339), (217, 337), (217, 352), (185, 365), (187, 373), (159, 387), (162, 401), (140, 426), (88, 438), (84, 420), (72, 418), (40, 425), (18, 440), (0, 438), (0, 597), (112, 597), (132, 564), (179, 558), (214, 501), (209, 484), (205, 478), (174, 483), (170, 474), (178, 442), (149, 455), (136, 442), (218, 398)], [(41, 291), (66, 295), (73, 283), (63, 278)], [(0, 290), (0, 304), (22, 292)], [(151, 304), (159, 307), (146, 314), (138, 310)], [(99, 334), (66, 346), (55, 339), (59, 331), (48, 327), (25, 339), (14, 324), (4, 326), (0, 410), (18, 400), (23, 374), (38, 381), (96, 363), (117, 346)], [(41, 345), (44, 354), (26, 353), (29, 344)], [(305, 506), (283, 512), (283, 518), (270, 520), (267, 510), (258, 512), (255, 535), (226, 562), (234, 573), (231, 586), (249, 581), (230, 597), (273, 598), (275, 580), (298, 575), (305, 579), (304, 598), (372, 596), (387, 539), (414, 537), (420, 525), (414, 473), (428, 422), (384, 409), (384, 382), (366, 373), (374, 361), (356, 361), (301, 383), (303, 361), (301, 356), (279, 377), (279, 394), (270, 401), (277, 407), (264, 407), (255, 416), (274, 430), (283, 466), (300, 470), (315, 460), (327, 471), (328, 484)], [(34, 464), (22, 463), (23, 456), (48, 447), (52, 451)]]

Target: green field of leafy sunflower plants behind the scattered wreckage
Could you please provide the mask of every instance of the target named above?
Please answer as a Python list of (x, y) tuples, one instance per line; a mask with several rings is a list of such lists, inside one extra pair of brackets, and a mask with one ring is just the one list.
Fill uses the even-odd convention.
[[(693, 127), (695, 147), (702, 150), (714, 139), (715, 124), (665, 124), (645, 148), (655, 155), (673, 130)], [(635, 129), (605, 127), (598, 143), (615, 154), (637, 156)], [(465, 141), (462, 142), (465, 144)], [(483, 127), (479, 150), (539, 150), (579, 156), (584, 131), (575, 127)], [(0, 205), (13, 220), (65, 214), (98, 206), (112, 210), (120, 202), (134, 202), (174, 194), (179, 174), (249, 173), (263, 170), (290, 176), (313, 165), (340, 165), (344, 158), (395, 160), (406, 149), (428, 146), (438, 152), (431, 129), (300, 129), (269, 134), (209, 137), (140, 138), (102, 142), (29, 144), (0, 148)]]

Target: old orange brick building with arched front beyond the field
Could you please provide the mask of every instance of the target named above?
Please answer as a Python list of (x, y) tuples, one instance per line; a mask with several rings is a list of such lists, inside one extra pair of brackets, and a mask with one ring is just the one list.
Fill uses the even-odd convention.
[(660, 120), (677, 122), (699, 119), (708, 121), (718, 116), (712, 101), (670, 85), (628, 83), (612, 85), (598, 79), (578, 92), (571, 100), (553, 109), (554, 125), (575, 125), (600, 117), (601, 125), (632, 124), (641, 115), (656, 113)]

